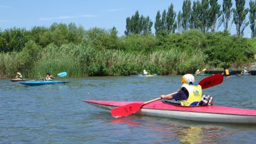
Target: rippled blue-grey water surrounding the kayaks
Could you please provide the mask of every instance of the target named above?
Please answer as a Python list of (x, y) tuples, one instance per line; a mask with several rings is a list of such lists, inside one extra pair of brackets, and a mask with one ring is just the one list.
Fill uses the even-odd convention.
[[(196, 81), (204, 78), (198, 76)], [(82, 102), (148, 101), (175, 92), (181, 76), (87, 77), (72, 83), (23, 86), (0, 79), (0, 143), (255, 143), (255, 125), (183, 121), (150, 116), (115, 119)], [(224, 78), (204, 89), (214, 104), (256, 109), (256, 76)]]

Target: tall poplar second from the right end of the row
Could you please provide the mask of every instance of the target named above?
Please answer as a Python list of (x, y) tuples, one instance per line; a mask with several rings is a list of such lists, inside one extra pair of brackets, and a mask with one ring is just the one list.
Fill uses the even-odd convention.
[(245, 0), (235, 0), (236, 9), (233, 8), (233, 21), (236, 24), (236, 33), (238, 36), (244, 35), (244, 29), (249, 25), (249, 22), (246, 21), (246, 15), (249, 12), (249, 9), (245, 9)]

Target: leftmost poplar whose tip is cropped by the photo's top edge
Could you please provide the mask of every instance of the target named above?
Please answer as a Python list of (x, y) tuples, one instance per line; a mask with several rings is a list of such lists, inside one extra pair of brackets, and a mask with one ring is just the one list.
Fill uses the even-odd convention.
[[(178, 15), (179, 17), (179, 15)], [(190, 0), (184, 0), (182, 5), (182, 28), (183, 30), (188, 30), (190, 18), (191, 18), (191, 1)]]

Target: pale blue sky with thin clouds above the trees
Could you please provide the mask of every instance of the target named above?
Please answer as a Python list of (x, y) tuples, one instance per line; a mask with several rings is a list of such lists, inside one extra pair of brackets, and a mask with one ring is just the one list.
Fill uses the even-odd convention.
[[(193, 0), (191, 1), (193, 3)], [(15, 26), (29, 30), (33, 26), (50, 26), (54, 22), (74, 22), (85, 29), (92, 27), (110, 29), (115, 26), (121, 36), (124, 34), (126, 17), (132, 16), (136, 10), (144, 16), (150, 16), (154, 22), (156, 12), (158, 10), (162, 12), (171, 3), (177, 13), (182, 9), (182, 0), (1, 0), (0, 28), (4, 30)], [(219, 3), (222, 4), (222, 0), (219, 0)], [(246, 0), (246, 7), (249, 7), (249, 0)], [(154, 26), (152, 31), (155, 31)], [(234, 24), (231, 33), (236, 33)], [(245, 30), (244, 37), (251, 37), (249, 26)]]

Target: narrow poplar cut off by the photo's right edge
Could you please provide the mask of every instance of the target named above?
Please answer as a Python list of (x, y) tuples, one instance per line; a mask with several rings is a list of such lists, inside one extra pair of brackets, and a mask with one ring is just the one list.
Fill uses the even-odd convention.
[(251, 23), (251, 37), (256, 37), (256, 0), (250, 0), (250, 15), (249, 15), (249, 19), (250, 19), (250, 23)]

